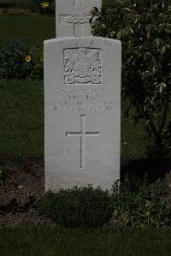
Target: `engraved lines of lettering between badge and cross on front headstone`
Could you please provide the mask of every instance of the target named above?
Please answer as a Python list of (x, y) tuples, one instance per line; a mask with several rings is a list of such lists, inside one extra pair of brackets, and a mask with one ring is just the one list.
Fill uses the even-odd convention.
[(55, 90), (56, 102), (53, 110), (68, 111), (111, 111), (114, 110), (114, 95), (108, 89), (60, 89)]

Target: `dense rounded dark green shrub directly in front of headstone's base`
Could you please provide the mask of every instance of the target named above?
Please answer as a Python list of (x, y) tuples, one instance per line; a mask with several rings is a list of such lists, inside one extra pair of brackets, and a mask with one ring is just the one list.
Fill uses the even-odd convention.
[(114, 211), (111, 198), (101, 188), (61, 189), (48, 192), (39, 202), (39, 211), (65, 227), (100, 227), (109, 223)]

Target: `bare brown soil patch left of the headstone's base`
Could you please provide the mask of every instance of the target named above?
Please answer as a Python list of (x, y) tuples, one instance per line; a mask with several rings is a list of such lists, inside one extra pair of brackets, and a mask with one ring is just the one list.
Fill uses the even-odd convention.
[(0, 158), (9, 177), (0, 185), (0, 226), (55, 225), (38, 213), (44, 193), (43, 158)]

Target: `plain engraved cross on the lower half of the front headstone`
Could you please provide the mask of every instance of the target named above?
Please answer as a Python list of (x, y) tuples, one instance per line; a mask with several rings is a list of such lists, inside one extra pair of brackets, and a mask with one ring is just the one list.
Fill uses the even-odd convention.
[(99, 136), (98, 132), (85, 132), (85, 115), (80, 115), (80, 132), (66, 132), (66, 136), (80, 137), (80, 169), (85, 169), (85, 137)]

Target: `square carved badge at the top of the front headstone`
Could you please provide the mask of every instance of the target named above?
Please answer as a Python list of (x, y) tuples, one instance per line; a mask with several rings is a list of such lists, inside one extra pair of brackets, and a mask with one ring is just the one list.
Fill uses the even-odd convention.
[(101, 84), (102, 50), (70, 48), (63, 53), (65, 84)]

